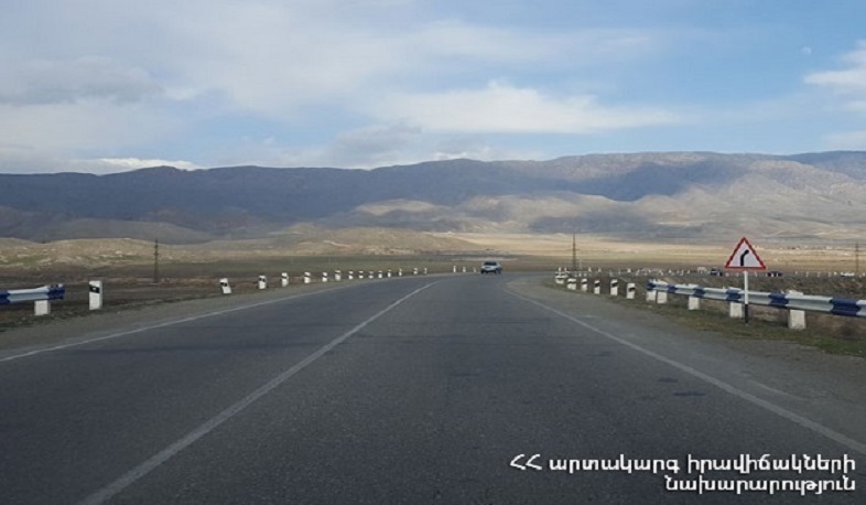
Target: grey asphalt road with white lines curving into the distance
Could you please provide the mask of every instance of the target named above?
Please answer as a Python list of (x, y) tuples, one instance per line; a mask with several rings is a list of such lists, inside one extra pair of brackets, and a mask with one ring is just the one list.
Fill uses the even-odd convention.
[[(343, 283), (7, 351), (0, 503), (866, 503), (863, 361), (539, 283)], [(764, 454), (846, 462), (703, 479), (856, 491), (669, 490), (699, 479), (690, 458)]]

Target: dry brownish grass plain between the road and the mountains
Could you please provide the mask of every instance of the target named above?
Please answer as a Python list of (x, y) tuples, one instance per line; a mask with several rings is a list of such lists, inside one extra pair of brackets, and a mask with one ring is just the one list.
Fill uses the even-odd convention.
[[(87, 310), (87, 281), (102, 280), (106, 291), (105, 310), (141, 307), (191, 298), (219, 297), (218, 281), (229, 278), (236, 292), (257, 289), (258, 276), (264, 275), (271, 286), (279, 286), (281, 272), (289, 272), (291, 283), (301, 282), (303, 272), (315, 279), (323, 271), (392, 270), (400, 268), (411, 275), (413, 268), (430, 273), (452, 271), (454, 266), (468, 271), (483, 259), (497, 258), (507, 271), (555, 271), (572, 262), (572, 236), (564, 234), (396, 234), (375, 233), (326, 234), (318, 240), (305, 236), (300, 241), (274, 239), (219, 241), (159, 248), (159, 282), (154, 282), (154, 244), (130, 239), (62, 240), (35, 244), (0, 239), (0, 289), (35, 288), (47, 283), (63, 283), (66, 299), (52, 304), (53, 320), (83, 315)], [(347, 237), (365, 237), (354, 246)], [(721, 267), (735, 244), (673, 244), (629, 243), (603, 236), (577, 237), (577, 260), (583, 269), (625, 271), (652, 269), (657, 277), (676, 281), (673, 273), (699, 267)], [(856, 261), (852, 245), (834, 244), (770, 244), (754, 240), (770, 269), (786, 272), (781, 279), (755, 279), (753, 289), (799, 289), (810, 294), (866, 298), (864, 283), (841, 277), (807, 278), (794, 272), (854, 271)], [(336, 244), (336, 246), (335, 246)], [(388, 244), (387, 249), (371, 249), (371, 245)], [(437, 248), (436, 245), (442, 247)], [(337, 247), (338, 246), (338, 247)], [(439, 249), (439, 250), (435, 250)], [(311, 250), (316, 254), (311, 254)], [(375, 254), (370, 251), (375, 250)], [(387, 254), (391, 251), (391, 254)], [(405, 251), (415, 251), (405, 254)], [(400, 253), (400, 254), (396, 254)], [(641, 278), (642, 283), (646, 278)], [(738, 282), (704, 276), (706, 286)], [(691, 281), (695, 281), (692, 279)], [(31, 303), (0, 307), (0, 332), (18, 325), (33, 324)], [(760, 318), (760, 311), (756, 311)], [(778, 319), (778, 314), (772, 318)], [(811, 318), (818, 319), (820, 318)], [(841, 335), (860, 337), (863, 329), (852, 322), (829, 319), (820, 323)], [(847, 319), (842, 319), (847, 320)], [(856, 322), (857, 324), (859, 322)], [(835, 326), (835, 327), (834, 327)]]

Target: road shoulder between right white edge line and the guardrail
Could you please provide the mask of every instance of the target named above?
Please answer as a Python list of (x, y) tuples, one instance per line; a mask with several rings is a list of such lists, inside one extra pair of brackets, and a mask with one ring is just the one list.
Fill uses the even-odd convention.
[(826, 354), (786, 341), (694, 330), (604, 297), (550, 289), (542, 282), (541, 277), (520, 277), (510, 280), (506, 289), (866, 447), (866, 359)]

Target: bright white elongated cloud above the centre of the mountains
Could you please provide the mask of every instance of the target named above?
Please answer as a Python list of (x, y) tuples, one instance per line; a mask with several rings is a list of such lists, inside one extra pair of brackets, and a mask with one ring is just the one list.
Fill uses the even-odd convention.
[(499, 82), (481, 89), (398, 95), (369, 112), (431, 130), (487, 133), (589, 133), (679, 120), (661, 108), (604, 106), (592, 95), (556, 97)]

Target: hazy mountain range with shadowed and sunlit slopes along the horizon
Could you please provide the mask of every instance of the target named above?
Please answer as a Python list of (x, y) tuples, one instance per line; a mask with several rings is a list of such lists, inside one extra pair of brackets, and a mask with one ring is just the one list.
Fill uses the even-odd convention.
[(299, 226), (852, 239), (866, 235), (866, 152), (0, 174), (0, 237), (183, 244), (268, 237)]

